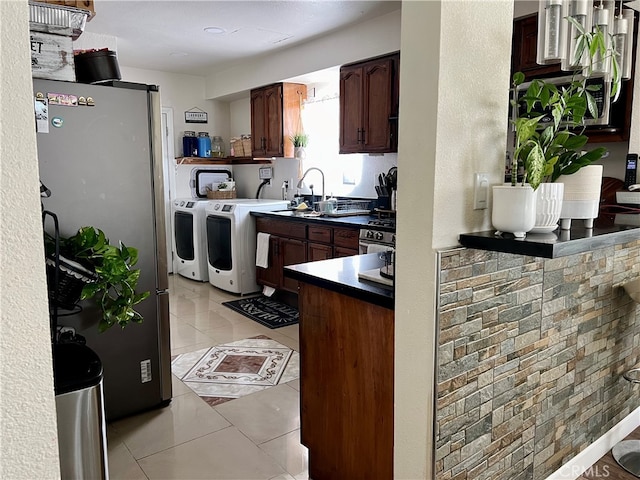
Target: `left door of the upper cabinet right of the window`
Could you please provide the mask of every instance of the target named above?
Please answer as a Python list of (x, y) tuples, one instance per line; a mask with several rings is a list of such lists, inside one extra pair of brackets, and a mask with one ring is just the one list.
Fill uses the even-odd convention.
[(361, 151), (362, 67), (340, 69), (340, 153)]

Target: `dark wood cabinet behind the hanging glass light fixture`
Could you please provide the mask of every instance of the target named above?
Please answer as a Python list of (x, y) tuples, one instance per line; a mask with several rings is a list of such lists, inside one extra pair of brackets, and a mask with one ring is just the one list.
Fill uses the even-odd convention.
[[(638, 16), (635, 17), (635, 32), (638, 31)], [(636, 35), (634, 38), (634, 61), (637, 48)], [(520, 17), (513, 22), (513, 43), (511, 51), (511, 73), (522, 72), (526, 80), (534, 78), (571, 76), (570, 72), (563, 72), (560, 64), (538, 65), (536, 63), (536, 51), (538, 43), (538, 14)], [(611, 104), (609, 125), (594, 125), (587, 127), (585, 134), (589, 137), (589, 143), (623, 142), (629, 140), (631, 129), (631, 110), (633, 104), (633, 78), (622, 82), (620, 97)]]

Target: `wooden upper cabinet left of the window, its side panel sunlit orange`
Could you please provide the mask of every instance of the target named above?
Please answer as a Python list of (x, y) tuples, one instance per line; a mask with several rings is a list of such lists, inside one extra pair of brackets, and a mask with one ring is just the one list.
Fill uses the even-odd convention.
[(291, 137), (300, 123), (306, 85), (276, 83), (251, 90), (251, 155), (293, 157)]

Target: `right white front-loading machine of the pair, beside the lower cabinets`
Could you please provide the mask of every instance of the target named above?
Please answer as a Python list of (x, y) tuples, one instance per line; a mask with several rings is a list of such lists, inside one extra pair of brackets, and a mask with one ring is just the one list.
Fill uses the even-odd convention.
[(286, 200), (210, 200), (207, 212), (209, 283), (245, 295), (260, 291), (256, 283), (256, 219), (250, 212), (286, 210)]

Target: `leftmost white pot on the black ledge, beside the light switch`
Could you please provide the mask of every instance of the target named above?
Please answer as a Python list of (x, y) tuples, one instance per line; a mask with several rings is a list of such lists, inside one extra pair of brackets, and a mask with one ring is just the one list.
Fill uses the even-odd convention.
[(524, 238), (536, 223), (536, 192), (530, 185), (495, 185), (491, 223), (496, 233)]

